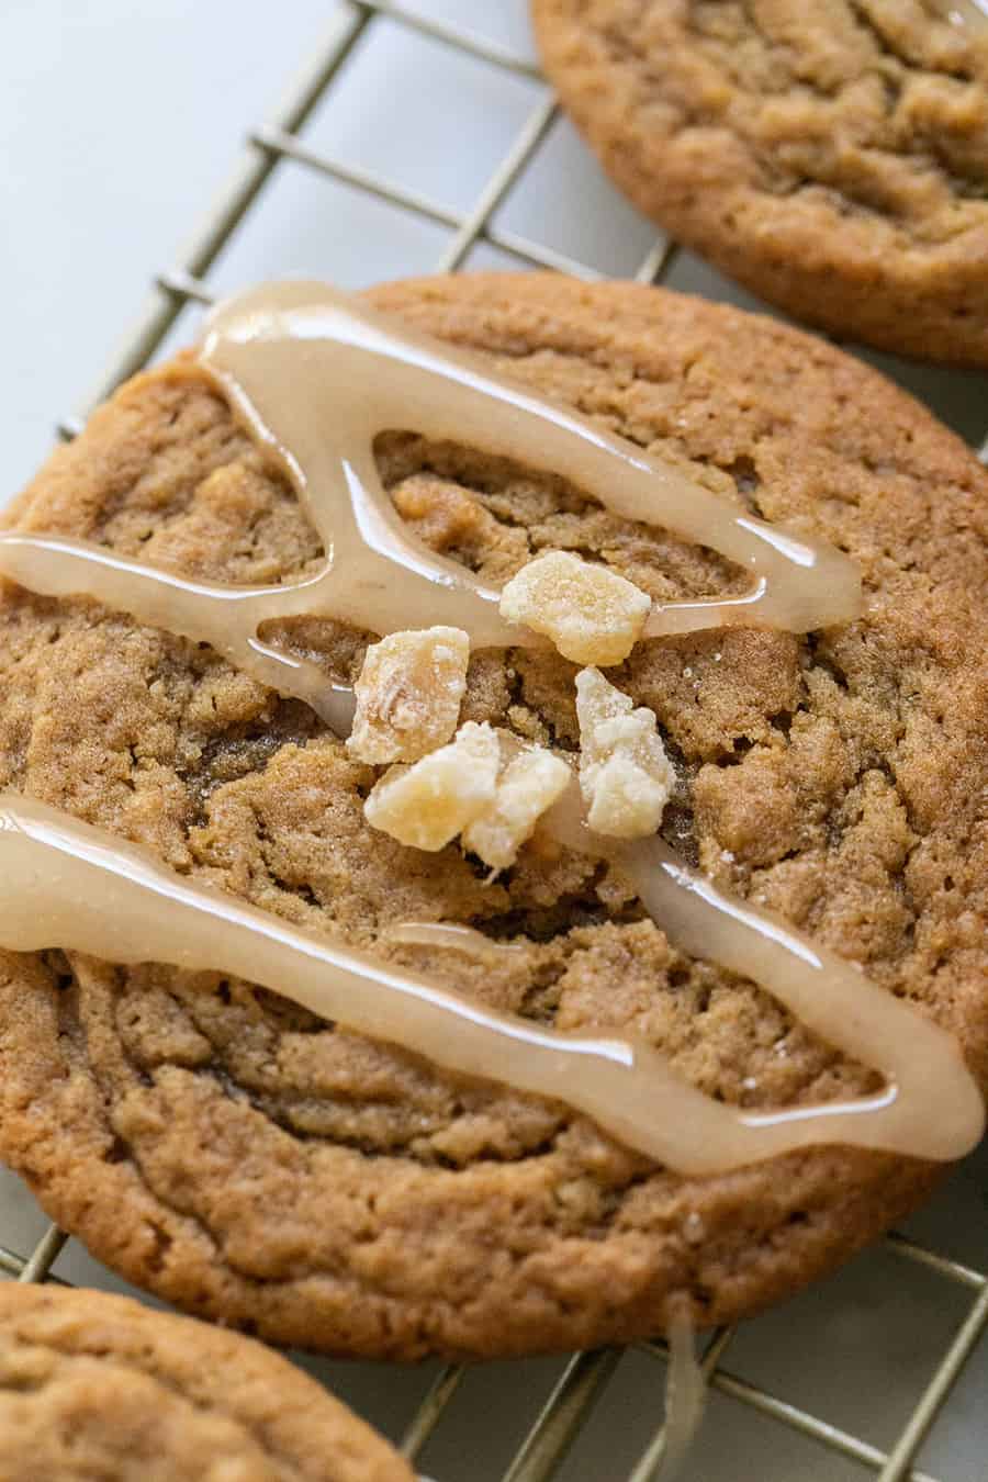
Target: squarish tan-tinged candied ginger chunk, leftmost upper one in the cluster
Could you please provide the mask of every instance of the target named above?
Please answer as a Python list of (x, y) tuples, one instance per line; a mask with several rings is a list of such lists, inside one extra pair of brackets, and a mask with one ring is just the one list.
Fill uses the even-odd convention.
[(350, 754), (372, 765), (418, 762), (449, 741), (468, 662), (470, 639), (462, 628), (390, 633), (372, 643), (354, 685)]

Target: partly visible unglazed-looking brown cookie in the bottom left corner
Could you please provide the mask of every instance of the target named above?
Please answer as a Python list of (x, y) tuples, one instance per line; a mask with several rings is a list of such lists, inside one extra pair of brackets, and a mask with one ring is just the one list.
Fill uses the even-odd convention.
[(0, 1285), (0, 1482), (412, 1482), (250, 1338), (127, 1297)]

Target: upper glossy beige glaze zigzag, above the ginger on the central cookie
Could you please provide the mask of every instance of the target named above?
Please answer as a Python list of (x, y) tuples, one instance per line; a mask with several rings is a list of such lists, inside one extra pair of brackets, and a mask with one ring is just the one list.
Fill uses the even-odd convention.
[(412, 536), (375, 465), (373, 439), (407, 427), (547, 468), (615, 514), (712, 547), (751, 574), (736, 597), (656, 603), (646, 636), (698, 628), (844, 622), (861, 609), (858, 569), (815, 536), (739, 513), (680, 470), (593, 422), (320, 283), (280, 283), (221, 305), (200, 366), (293, 485), (324, 550), (323, 569), (283, 587), (169, 575), (62, 536), (0, 534), (0, 575), (49, 597), (90, 596), (141, 622), (210, 643), (264, 685), (307, 701), (345, 735), (353, 700), (318, 665), (265, 645), (264, 622), (336, 618), (373, 633), (464, 628), (474, 648), (536, 645), (499, 615), (499, 591)]

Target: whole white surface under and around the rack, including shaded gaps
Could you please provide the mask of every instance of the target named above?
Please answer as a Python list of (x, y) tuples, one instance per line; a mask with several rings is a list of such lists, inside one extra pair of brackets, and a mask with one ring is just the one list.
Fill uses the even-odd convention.
[[(421, 0), (424, 13), (527, 47), (521, 0)], [(0, 0), (0, 502), (30, 476), (98, 378), (151, 274), (178, 258), (244, 132), (311, 52), (329, 4), (281, 0)], [(465, 210), (508, 148), (539, 86), (490, 74), (397, 25), (375, 22), (307, 127), (310, 144), (390, 173)], [(566, 124), (554, 129), (498, 219), (612, 274), (632, 273), (653, 240), (603, 182)], [(289, 271), (357, 285), (428, 271), (449, 240), (433, 224), (313, 176), (280, 170), (213, 274), (219, 288)], [(517, 265), (478, 247), (471, 265)], [(735, 293), (683, 255), (674, 286)], [(191, 311), (175, 339), (188, 335)], [(969, 439), (988, 427), (982, 376), (869, 356), (920, 391)], [(912, 1232), (988, 1263), (988, 1159), (954, 1175)], [(0, 1175), (0, 1242), (27, 1249), (43, 1229), (30, 1196)], [(119, 1285), (73, 1243), (68, 1279)], [(886, 1249), (742, 1329), (727, 1366), (880, 1446), (932, 1374), (970, 1294)], [(391, 1435), (431, 1369), (316, 1365)], [(471, 1372), (422, 1464), (440, 1482), (493, 1482), (558, 1360)], [(567, 1463), (564, 1482), (618, 1482), (661, 1418), (662, 1368), (622, 1362)], [(988, 1420), (982, 1343), (921, 1457), (944, 1482), (982, 1482)], [(714, 1396), (684, 1482), (840, 1482), (867, 1473), (724, 1396)]]

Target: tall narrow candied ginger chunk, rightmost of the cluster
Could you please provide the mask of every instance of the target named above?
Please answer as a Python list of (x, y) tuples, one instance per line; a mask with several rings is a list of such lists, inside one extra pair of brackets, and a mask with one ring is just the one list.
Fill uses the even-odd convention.
[(674, 774), (650, 710), (637, 710), (597, 668), (576, 676), (579, 785), (587, 823), (615, 839), (655, 833)]

